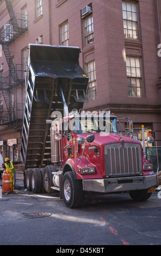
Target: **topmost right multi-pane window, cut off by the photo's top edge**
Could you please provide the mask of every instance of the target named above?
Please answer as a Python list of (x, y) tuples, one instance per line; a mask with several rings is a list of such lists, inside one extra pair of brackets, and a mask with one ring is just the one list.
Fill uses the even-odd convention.
[(137, 4), (122, 2), (125, 38), (139, 39)]

